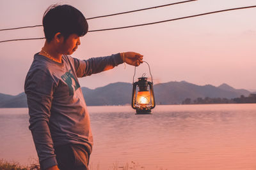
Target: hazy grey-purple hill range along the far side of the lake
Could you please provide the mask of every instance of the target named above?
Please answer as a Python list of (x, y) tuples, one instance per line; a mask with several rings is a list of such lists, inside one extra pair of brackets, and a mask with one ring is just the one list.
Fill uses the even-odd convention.
[[(132, 84), (111, 83), (97, 89), (81, 88), (88, 106), (124, 105), (131, 104)], [(186, 81), (170, 81), (154, 85), (156, 104), (181, 104), (186, 98), (192, 100), (198, 97), (221, 97), (232, 99), (248, 96), (250, 92), (244, 89), (234, 89), (223, 83), (219, 87), (213, 85), (195, 85)], [(26, 108), (26, 94), (22, 92), (17, 96), (0, 94), (0, 108)]]

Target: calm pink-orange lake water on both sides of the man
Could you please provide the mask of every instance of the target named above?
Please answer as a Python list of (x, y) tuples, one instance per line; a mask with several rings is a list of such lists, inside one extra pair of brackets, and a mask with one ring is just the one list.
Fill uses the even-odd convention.
[[(91, 169), (256, 169), (256, 104), (88, 107)], [(0, 109), (0, 159), (35, 161), (28, 109)], [(132, 162), (135, 162), (132, 163)]]

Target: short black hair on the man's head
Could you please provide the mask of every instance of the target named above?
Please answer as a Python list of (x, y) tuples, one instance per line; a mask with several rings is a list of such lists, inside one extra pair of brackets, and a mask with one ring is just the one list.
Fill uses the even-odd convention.
[(45, 38), (48, 42), (60, 32), (64, 39), (70, 34), (84, 36), (88, 32), (88, 23), (81, 11), (68, 4), (51, 5), (43, 17)]

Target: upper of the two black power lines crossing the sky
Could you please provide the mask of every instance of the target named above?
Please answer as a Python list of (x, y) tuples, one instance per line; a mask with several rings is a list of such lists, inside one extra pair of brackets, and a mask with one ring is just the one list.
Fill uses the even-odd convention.
[[(153, 7), (150, 7), (150, 8), (143, 8), (143, 9), (140, 9), (140, 10), (125, 11), (125, 12), (121, 12), (121, 13), (113, 13), (113, 14), (109, 14), (109, 15), (102, 15), (102, 16), (98, 16), (98, 17), (86, 18), (86, 20), (92, 20), (92, 19), (95, 19), (95, 18), (103, 18), (103, 17), (111, 17), (111, 16), (114, 16), (114, 15), (122, 15), (122, 14), (125, 14), (125, 13), (132, 13), (132, 12), (136, 12), (136, 11), (151, 10), (151, 9), (154, 9), (154, 8), (161, 8), (161, 7), (164, 7), (164, 6), (171, 6), (171, 5), (175, 5), (175, 4), (189, 3), (191, 1), (198, 1), (198, 0), (189, 0), (189, 1), (181, 1), (181, 2), (177, 2), (177, 3), (163, 4), (163, 5), (160, 5), (160, 6), (153, 6)], [(42, 27), (42, 26), (43, 25), (15, 27), (15, 28), (8, 28), (8, 29), (0, 29), (0, 31), (8, 31), (8, 30), (14, 30), (14, 29), (25, 29), (25, 28), (33, 28), (33, 27)]]

